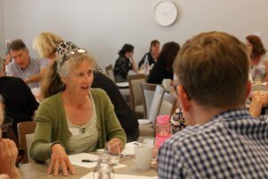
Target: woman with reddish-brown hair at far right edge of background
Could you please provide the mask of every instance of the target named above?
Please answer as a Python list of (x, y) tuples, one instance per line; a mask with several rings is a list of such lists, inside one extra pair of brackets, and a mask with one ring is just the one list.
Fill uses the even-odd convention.
[(246, 45), (250, 55), (250, 74), (254, 82), (268, 81), (268, 59), (264, 59), (266, 50), (261, 38), (250, 35), (246, 38)]

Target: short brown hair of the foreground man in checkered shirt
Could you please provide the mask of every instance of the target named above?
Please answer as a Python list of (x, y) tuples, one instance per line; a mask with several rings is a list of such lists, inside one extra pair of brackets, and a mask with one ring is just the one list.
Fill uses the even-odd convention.
[(236, 107), (246, 102), (249, 56), (245, 44), (224, 32), (191, 38), (173, 64), (188, 97), (202, 107)]

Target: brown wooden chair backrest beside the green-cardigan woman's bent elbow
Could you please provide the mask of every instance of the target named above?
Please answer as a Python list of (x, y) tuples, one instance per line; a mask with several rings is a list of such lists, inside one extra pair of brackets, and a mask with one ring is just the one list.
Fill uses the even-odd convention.
[(21, 122), (17, 125), (21, 148), (25, 151), (25, 156), (22, 159), (22, 164), (33, 161), (29, 157), (29, 148), (33, 141), (33, 133), (35, 132), (36, 125), (37, 124), (35, 121)]

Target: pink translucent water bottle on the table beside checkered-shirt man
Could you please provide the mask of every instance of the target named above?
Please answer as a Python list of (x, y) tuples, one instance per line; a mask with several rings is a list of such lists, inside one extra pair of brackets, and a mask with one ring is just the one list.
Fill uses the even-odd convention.
[(157, 116), (157, 124), (155, 124), (156, 149), (159, 149), (163, 145), (163, 142), (171, 136), (170, 115)]

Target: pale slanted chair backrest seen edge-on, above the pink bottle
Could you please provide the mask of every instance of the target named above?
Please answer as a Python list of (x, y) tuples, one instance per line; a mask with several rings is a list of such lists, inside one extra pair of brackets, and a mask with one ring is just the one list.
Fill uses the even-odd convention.
[(155, 128), (156, 116), (158, 115), (161, 101), (163, 98), (163, 91), (164, 90), (162, 86), (159, 85), (156, 86), (154, 98), (152, 100), (152, 105), (150, 108), (149, 120), (152, 122), (154, 128)]

